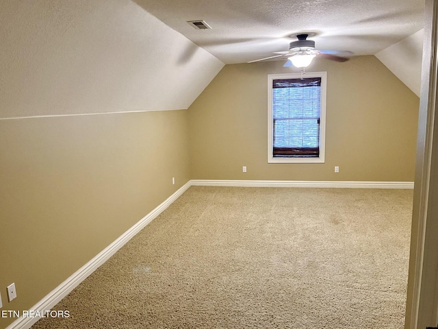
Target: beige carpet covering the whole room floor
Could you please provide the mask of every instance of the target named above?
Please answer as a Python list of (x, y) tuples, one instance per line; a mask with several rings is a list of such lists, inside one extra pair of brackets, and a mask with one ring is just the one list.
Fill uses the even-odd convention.
[(402, 329), (412, 197), (192, 186), (32, 328)]

